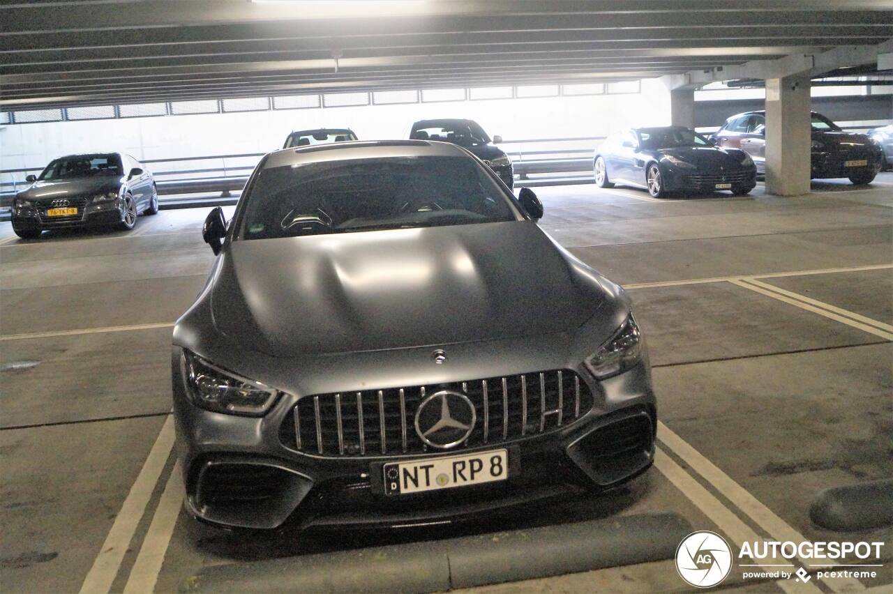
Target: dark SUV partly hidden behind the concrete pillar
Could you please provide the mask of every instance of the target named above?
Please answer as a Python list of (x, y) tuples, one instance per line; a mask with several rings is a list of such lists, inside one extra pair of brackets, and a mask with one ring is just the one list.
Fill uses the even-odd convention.
[[(880, 170), (880, 148), (864, 134), (845, 132), (821, 113), (812, 112), (811, 177), (849, 177), (854, 184), (869, 184)], [(723, 148), (740, 148), (766, 171), (766, 112), (747, 111), (730, 117), (714, 132)]]

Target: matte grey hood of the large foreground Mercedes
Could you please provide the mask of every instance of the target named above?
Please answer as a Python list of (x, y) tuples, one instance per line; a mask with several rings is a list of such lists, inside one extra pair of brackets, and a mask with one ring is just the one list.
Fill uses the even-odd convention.
[(211, 303), (254, 351), (378, 351), (579, 327), (605, 300), (579, 270), (530, 221), (243, 240), (221, 253)]

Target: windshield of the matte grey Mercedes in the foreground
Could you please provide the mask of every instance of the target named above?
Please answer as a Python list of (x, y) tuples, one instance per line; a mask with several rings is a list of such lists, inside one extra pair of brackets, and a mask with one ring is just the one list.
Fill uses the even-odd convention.
[(467, 157), (388, 157), (262, 169), (237, 237), (269, 239), (516, 220), (497, 183)]

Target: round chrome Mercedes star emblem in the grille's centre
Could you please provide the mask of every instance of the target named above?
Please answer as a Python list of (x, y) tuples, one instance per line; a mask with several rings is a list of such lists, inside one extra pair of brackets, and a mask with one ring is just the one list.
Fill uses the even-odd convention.
[(441, 390), (421, 400), (415, 411), (415, 433), (432, 448), (455, 448), (472, 434), (477, 413), (464, 394)]

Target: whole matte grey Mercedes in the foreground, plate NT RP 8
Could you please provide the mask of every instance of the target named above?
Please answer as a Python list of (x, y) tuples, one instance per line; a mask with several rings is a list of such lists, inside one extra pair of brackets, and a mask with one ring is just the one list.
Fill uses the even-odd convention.
[(620, 286), (463, 148), (266, 155), (173, 332), (186, 506), (222, 526), (447, 523), (651, 466)]

